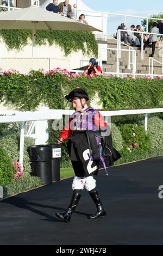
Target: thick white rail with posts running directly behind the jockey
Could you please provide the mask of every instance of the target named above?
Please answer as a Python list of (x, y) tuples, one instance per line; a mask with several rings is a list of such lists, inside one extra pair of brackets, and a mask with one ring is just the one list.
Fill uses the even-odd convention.
[[(36, 120), (59, 120), (62, 119), (62, 115), (71, 115), (74, 111), (68, 109), (43, 109), (42, 111), (1, 111), (0, 123), (15, 123), (21, 122), (21, 135), (20, 135), (20, 157), (19, 161), (23, 168), (23, 154), (24, 154), (24, 133), (25, 125), (27, 121)], [(161, 113), (163, 108), (151, 108), (151, 109), (131, 109), (131, 110), (119, 110), (119, 111), (100, 111), (105, 120), (108, 117), (114, 115), (129, 115), (129, 114), (146, 114), (145, 115), (145, 131), (147, 131), (148, 113)]]

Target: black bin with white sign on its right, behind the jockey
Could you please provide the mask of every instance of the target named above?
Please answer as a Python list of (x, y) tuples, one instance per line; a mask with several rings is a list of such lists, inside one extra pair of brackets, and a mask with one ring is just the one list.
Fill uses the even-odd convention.
[(29, 147), (32, 174), (41, 178), (42, 184), (60, 180), (60, 145), (35, 145)]

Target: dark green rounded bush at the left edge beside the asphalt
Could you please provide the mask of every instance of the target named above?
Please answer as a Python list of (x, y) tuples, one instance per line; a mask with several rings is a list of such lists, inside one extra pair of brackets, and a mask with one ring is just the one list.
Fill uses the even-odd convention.
[(0, 185), (6, 185), (14, 180), (15, 169), (7, 152), (0, 148)]

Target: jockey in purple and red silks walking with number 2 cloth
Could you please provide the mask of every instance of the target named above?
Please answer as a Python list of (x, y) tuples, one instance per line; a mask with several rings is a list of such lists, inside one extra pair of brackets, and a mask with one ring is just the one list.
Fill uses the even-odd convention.
[[(71, 215), (81, 197), (81, 191), (85, 187), (97, 208), (96, 214), (89, 216), (89, 218), (102, 217), (106, 215), (106, 211), (96, 190), (96, 180), (93, 178), (93, 175), (97, 175), (98, 169), (105, 169), (106, 171), (108, 166), (112, 165), (113, 161), (116, 161), (113, 160), (110, 154), (111, 151), (114, 152), (115, 158), (118, 159), (121, 156), (116, 150), (112, 149), (111, 143), (109, 146), (111, 151), (107, 143), (105, 143), (105, 149), (109, 149), (110, 158), (108, 162), (104, 163), (102, 154), (99, 154), (102, 143), (99, 129), (104, 130), (105, 133), (108, 124), (105, 123), (102, 115), (96, 109), (87, 106), (89, 96), (85, 90), (76, 88), (65, 97), (68, 101), (72, 102), (75, 112), (69, 119), (68, 125), (60, 133), (58, 143), (62, 145), (68, 139), (67, 149), (75, 176), (72, 182), (73, 194), (70, 205), (65, 212), (56, 212), (55, 215), (62, 221), (70, 222)], [(108, 156), (107, 149), (105, 154)]]

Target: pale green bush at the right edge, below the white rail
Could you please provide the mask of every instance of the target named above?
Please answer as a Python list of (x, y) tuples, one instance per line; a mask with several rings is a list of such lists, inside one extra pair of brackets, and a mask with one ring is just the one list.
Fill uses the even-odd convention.
[[(141, 121), (144, 125), (145, 121)], [(158, 117), (148, 118), (148, 135), (152, 139), (153, 149), (163, 149), (163, 120)]]

